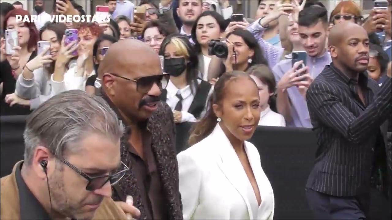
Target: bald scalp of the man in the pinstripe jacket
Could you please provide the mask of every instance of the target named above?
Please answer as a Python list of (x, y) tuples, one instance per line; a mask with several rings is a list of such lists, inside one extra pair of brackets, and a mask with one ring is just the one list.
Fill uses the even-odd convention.
[(367, 32), (360, 25), (353, 22), (340, 22), (332, 27), (328, 36), (328, 47), (338, 47), (345, 40), (350, 38), (353, 33), (363, 32), (367, 35)]

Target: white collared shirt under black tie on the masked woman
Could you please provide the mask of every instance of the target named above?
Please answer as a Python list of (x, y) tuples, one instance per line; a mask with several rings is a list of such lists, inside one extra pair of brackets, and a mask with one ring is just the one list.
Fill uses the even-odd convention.
[[(200, 85), (200, 82), (201, 82), (201, 80), (198, 79), (199, 85)], [(191, 113), (188, 112), (189, 107), (191, 107), (191, 104), (192, 104), (192, 101), (194, 98), (194, 94), (191, 93), (191, 87), (189, 85), (187, 85), (186, 87), (184, 87), (182, 89), (178, 89), (172, 83), (172, 81), (169, 80), (169, 83), (167, 83), (167, 86), (166, 86), (166, 90), (167, 90), (166, 103), (167, 103), (167, 105), (170, 106), (172, 111), (174, 111), (174, 108), (176, 108), (178, 101), (180, 101), (180, 99), (178, 99), (178, 97), (176, 96), (177, 92), (180, 92), (180, 94), (182, 96), (181, 122), (197, 121), (197, 119)], [(211, 92), (212, 92), (212, 87), (211, 87), (211, 90), (209, 91), (208, 97), (211, 95)], [(206, 108), (207, 108), (208, 97), (207, 97), (207, 100), (205, 103), (205, 108), (204, 108), (203, 112), (201, 112), (200, 117), (203, 117), (205, 115), (205, 112), (207, 110)]]

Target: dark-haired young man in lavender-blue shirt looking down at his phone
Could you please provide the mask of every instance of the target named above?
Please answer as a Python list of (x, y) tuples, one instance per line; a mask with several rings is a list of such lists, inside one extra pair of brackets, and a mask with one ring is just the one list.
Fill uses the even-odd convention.
[[(272, 69), (277, 82), (277, 108), (287, 126), (312, 127), (305, 100), (306, 90), (325, 65), (332, 61), (325, 48), (328, 36), (327, 9), (310, 6), (299, 13), (299, 36), (307, 52), (307, 65), (293, 70), (292, 59), (279, 61)], [(306, 74), (301, 76), (301, 73)]]

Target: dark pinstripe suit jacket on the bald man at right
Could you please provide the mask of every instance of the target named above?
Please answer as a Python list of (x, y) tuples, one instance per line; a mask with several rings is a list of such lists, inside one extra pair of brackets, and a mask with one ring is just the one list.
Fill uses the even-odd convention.
[[(358, 85), (365, 105), (356, 92)], [(306, 96), (318, 139), (307, 188), (339, 197), (370, 190), (374, 151), (381, 147), (376, 143), (380, 126), (391, 113), (391, 97), (390, 78), (380, 88), (366, 72), (360, 73), (356, 82), (333, 63), (325, 67)], [(385, 159), (385, 153), (383, 156)]]

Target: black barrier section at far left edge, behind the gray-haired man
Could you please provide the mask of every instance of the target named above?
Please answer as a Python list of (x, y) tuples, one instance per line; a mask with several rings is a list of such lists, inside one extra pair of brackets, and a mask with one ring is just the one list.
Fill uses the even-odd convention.
[(1, 177), (9, 175), (15, 163), (23, 160), (23, 132), (27, 115), (2, 116), (0, 132)]

